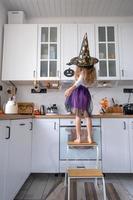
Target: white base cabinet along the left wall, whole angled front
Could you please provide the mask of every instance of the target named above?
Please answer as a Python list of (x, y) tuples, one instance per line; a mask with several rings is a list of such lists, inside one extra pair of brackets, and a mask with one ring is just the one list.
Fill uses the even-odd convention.
[(30, 119), (0, 121), (0, 200), (13, 200), (30, 174), (31, 125)]

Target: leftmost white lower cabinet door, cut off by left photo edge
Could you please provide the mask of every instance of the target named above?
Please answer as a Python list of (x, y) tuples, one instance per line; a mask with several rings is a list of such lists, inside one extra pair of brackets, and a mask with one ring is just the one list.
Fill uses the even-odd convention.
[(0, 121), (0, 200), (6, 200), (6, 173), (8, 168), (8, 145), (10, 121)]

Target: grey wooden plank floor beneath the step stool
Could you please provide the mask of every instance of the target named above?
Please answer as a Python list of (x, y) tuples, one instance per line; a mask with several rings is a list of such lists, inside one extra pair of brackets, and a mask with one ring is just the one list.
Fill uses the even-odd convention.
[[(112, 183), (118, 192), (118, 197), (108, 195), (107, 200), (133, 200), (133, 174), (106, 174), (105, 181), (109, 185)], [(106, 185), (107, 185), (106, 184)], [(86, 192), (83, 194), (83, 183), (73, 185), (71, 200), (102, 200), (102, 197), (86, 198), (86, 192), (89, 187), (84, 184)], [(111, 184), (110, 184), (111, 185)], [(56, 189), (55, 189), (56, 188)], [(66, 188), (64, 189), (64, 175), (63, 174), (31, 174), (25, 184), (22, 186), (15, 200), (66, 200)], [(76, 190), (74, 188), (77, 188)], [(109, 192), (110, 188), (108, 187)], [(74, 192), (75, 191), (75, 192)], [(94, 195), (95, 196), (95, 195)]]

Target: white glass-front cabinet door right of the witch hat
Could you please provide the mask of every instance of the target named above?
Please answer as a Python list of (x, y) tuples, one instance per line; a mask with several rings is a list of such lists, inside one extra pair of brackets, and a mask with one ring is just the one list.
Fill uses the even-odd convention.
[(117, 26), (96, 26), (96, 54), (99, 80), (119, 79)]

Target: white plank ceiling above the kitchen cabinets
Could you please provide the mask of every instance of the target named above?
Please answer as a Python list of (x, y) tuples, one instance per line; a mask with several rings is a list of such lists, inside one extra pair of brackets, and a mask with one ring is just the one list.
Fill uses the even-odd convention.
[(0, 0), (27, 18), (133, 16), (133, 0)]

